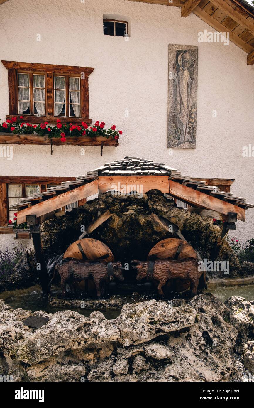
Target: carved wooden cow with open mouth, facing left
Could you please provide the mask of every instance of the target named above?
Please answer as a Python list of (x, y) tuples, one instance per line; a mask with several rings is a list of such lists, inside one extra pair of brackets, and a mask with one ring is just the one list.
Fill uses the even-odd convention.
[(199, 278), (203, 274), (204, 286), (207, 289), (205, 282), (205, 271), (198, 270), (198, 260), (196, 258), (186, 258), (178, 260), (161, 259), (157, 261), (137, 261), (133, 268), (137, 269), (136, 279), (140, 280), (147, 278), (148, 280), (155, 279), (159, 282), (157, 290), (160, 296), (164, 297), (163, 286), (168, 279), (189, 279), (190, 280), (190, 295), (197, 295), (197, 287)]

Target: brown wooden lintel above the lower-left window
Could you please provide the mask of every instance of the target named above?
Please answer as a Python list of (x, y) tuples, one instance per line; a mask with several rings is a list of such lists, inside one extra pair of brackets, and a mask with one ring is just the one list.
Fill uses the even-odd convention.
[(6, 184), (60, 184), (63, 181), (76, 180), (75, 177), (50, 177), (50, 176), (1, 176), (0, 183)]

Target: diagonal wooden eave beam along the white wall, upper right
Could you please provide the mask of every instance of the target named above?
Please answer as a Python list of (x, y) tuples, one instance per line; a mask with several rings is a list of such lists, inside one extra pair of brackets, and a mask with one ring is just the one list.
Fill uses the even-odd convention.
[[(224, 32), (228, 31), (227, 27), (223, 26), (219, 21), (217, 21), (214, 17), (210, 16), (210, 14), (206, 13), (201, 7), (197, 6), (192, 13), (196, 14), (196, 16), (200, 17), (201, 20), (205, 21), (207, 24), (209, 24), (212, 28), (214, 28), (216, 31), (219, 32)], [(230, 31), (230, 41), (234, 42), (238, 47), (240, 47), (243, 51), (247, 53), (251, 53), (254, 51), (254, 47), (252, 47), (250, 44), (247, 44), (247, 42), (241, 40), (240, 37), (238, 37), (236, 34), (232, 33)]]

